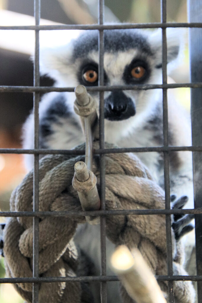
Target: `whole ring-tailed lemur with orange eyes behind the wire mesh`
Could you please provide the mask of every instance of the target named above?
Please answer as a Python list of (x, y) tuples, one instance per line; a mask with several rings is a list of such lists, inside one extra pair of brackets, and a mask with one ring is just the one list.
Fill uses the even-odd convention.
[[(180, 54), (179, 31), (167, 29), (167, 70), (176, 68)], [(104, 31), (104, 83), (105, 85), (161, 84), (162, 83), (162, 35), (136, 29)], [(41, 71), (49, 74), (57, 86), (98, 85), (98, 32), (82, 32), (69, 45), (40, 52)], [(91, 95), (99, 103), (99, 95)], [(79, 120), (73, 111), (75, 95), (72, 92), (51, 92), (39, 105), (40, 148), (70, 149), (84, 142)], [(162, 90), (127, 90), (104, 93), (105, 141), (120, 147), (148, 147), (163, 145)], [(168, 92), (168, 132), (170, 145), (190, 145), (189, 119), (180, 105)], [(24, 125), (24, 148), (33, 148), (33, 114)], [(170, 153), (171, 192), (178, 196), (192, 192), (192, 162), (187, 152)], [(150, 169), (163, 187), (163, 155), (157, 152), (138, 153), (138, 157)], [(26, 156), (27, 167), (32, 167), (32, 156)], [(172, 198), (173, 199), (173, 198)], [(182, 208), (187, 198), (180, 200)], [(177, 217), (176, 217), (177, 218)], [(179, 217), (177, 218), (179, 219)], [(185, 222), (185, 228), (180, 220)], [(176, 238), (192, 227), (189, 216), (176, 225)], [(188, 223), (187, 223), (188, 222)], [(180, 228), (179, 226), (180, 225)], [(85, 227), (86, 234), (98, 237), (95, 226)], [(96, 256), (82, 233), (76, 240), (84, 251)], [(89, 237), (88, 237), (89, 238)], [(92, 238), (91, 238), (92, 239)], [(91, 241), (90, 239), (90, 241)], [(85, 243), (83, 243), (85, 242)], [(95, 248), (95, 247), (94, 247)], [(95, 261), (95, 262), (98, 262)], [(96, 299), (98, 300), (98, 299)], [(120, 302), (116, 293), (109, 292), (109, 302)]]

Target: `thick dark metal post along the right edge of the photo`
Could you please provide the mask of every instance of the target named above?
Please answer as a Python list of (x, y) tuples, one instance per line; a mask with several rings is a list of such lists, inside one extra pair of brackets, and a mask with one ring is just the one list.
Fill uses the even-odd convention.
[[(201, 0), (188, 0), (188, 21), (202, 21)], [(189, 29), (189, 50), (190, 50), (190, 75), (191, 82), (202, 82), (202, 29)], [(192, 145), (202, 145), (202, 88), (191, 88), (191, 125)], [(202, 153), (194, 151), (193, 157), (193, 178), (194, 178), (194, 208), (202, 207)], [(195, 236), (196, 236), (196, 268), (197, 275), (202, 274), (202, 215), (195, 215)], [(198, 302), (202, 302), (202, 282), (197, 282)]]

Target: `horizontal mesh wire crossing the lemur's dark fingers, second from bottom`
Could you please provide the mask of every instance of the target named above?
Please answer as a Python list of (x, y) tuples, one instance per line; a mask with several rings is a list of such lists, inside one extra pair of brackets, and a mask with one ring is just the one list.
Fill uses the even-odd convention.
[(123, 209), (96, 211), (0, 211), (0, 217), (84, 217), (112, 215), (172, 215), (202, 214), (202, 208), (195, 209)]

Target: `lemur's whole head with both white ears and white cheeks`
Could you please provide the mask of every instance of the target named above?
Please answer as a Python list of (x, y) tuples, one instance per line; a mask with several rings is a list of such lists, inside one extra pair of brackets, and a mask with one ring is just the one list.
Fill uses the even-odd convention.
[[(167, 29), (167, 68), (176, 65), (179, 31)], [(98, 31), (85, 31), (69, 45), (41, 52), (41, 70), (59, 86), (98, 85)], [(104, 31), (104, 85), (162, 83), (162, 33), (145, 30)], [(99, 94), (91, 93), (99, 103)], [(105, 126), (126, 135), (146, 119), (160, 98), (161, 89), (105, 92)], [(73, 111), (75, 96), (68, 93)]]

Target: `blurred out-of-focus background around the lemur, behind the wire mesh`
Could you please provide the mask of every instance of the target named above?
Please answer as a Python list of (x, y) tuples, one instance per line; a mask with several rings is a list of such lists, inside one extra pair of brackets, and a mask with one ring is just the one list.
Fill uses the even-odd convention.
[[(93, 24), (97, 23), (97, 0), (41, 0), (41, 24)], [(160, 22), (160, 0), (106, 0), (105, 22)], [(33, 0), (0, 0), (0, 25), (34, 25)], [(167, 21), (187, 22), (186, 0), (167, 1)], [(43, 31), (40, 43), (63, 43), (75, 34), (64, 31)], [(34, 52), (33, 31), (0, 30), (0, 85), (33, 85), (33, 65), (30, 55)], [(189, 82), (189, 54), (186, 45), (184, 60), (173, 74), (175, 82)], [(53, 85), (48, 77), (41, 78), (41, 85)], [(190, 109), (190, 89), (173, 89), (179, 102)], [(0, 93), (0, 148), (21, 148), (21, 128), (33, 107), (30, 93)], [(22, 155), (0, 154), (0, 210), (9, 210), (12, 190), (25, 175)], [(0, 218), (4, 221), (3, 218)], [(0, 257), (0, 277), (5, 274)], [(1, 303), (20, 303), (23, 300), (12, 285), (0, 287)]]

